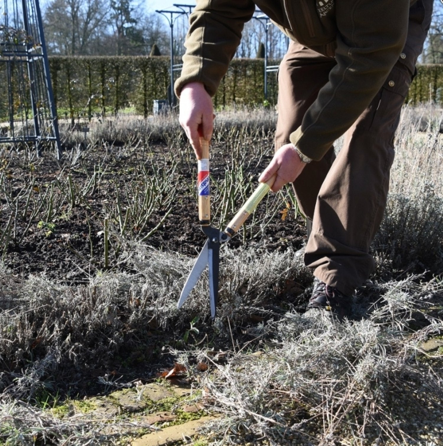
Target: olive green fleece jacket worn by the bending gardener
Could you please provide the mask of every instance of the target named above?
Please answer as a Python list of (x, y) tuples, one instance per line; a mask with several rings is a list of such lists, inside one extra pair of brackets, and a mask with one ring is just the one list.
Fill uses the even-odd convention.
[(291, 39), (337, 65), (290, 140), (320, 160), (354, 124), (386, 80), (406, 41), (416, 0), (197, 0), (189, 23), (183, 70), (175, 82), (201, 82), (213, 96), (256, 6)]

